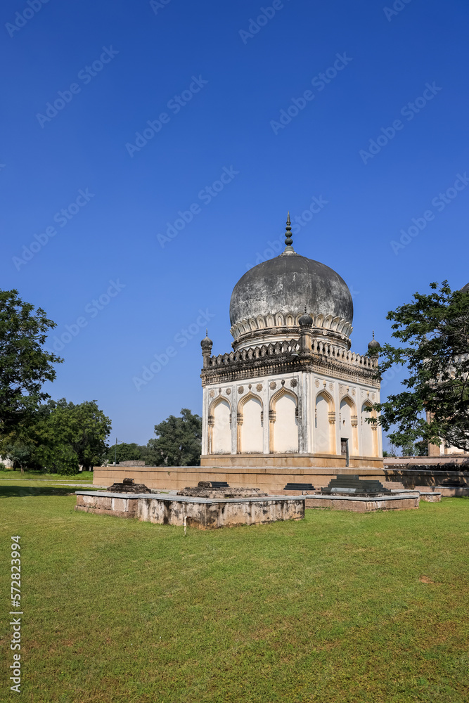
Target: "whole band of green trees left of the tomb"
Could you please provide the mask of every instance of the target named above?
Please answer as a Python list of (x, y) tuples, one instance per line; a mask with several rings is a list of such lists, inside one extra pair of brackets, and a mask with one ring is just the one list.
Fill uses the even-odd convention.
[(54, 401), (44, 392), (63, 359), (44, 348), (56, 323), (41, 308), (0, 290), (0, 457), (23, 471), (74, 474), (106, 461), (144, 460), (156, 466), (200, 463), (202, 420), (184, 408), (155, 425), (146, 446), (109, 446), (110, 418), (96, 400)]

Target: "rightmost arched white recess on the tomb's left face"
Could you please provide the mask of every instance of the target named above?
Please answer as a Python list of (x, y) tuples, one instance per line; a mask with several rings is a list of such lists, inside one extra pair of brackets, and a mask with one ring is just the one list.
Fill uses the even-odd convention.
[(298, 397), (282, 388), (272, 396), (269, 405), (271, 453), (298, 451)]

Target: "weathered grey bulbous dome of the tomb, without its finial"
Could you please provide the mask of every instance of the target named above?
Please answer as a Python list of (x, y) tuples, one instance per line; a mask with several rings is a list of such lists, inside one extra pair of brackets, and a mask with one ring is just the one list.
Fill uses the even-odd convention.
[(258, 316), (296, 316), (305, 305), (315, 324), (318, 316), (331, 316), (352, 326), (354, 307), (345, 280), (325, 264), (284, 252), (238, 280), (231, 294), (230, 321), (233, 327)]

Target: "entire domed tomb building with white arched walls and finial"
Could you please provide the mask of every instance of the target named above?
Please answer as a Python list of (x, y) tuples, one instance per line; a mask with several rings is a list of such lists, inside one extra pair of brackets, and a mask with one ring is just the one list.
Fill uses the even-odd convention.
[[(203, 354), (201, 466), (383, 467), (375, 361), (350, 350), (352, 295), (328, 266), (293, 249), (236, 283), (233, 351)], [(370, 342), (368, 346), (376, 346)]]

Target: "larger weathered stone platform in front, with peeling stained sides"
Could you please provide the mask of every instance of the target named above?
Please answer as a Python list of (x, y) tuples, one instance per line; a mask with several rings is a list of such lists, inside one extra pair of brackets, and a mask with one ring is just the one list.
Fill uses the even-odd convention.
[(97, 515), (136, 517), (143, 522), (217, 529), (277, 520), (302, 520), (304, 498), (268, 496), (263, 498), (191, 498), (162, 494), (113, 494), (76, 491), (75, 510)]

